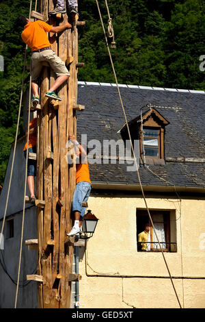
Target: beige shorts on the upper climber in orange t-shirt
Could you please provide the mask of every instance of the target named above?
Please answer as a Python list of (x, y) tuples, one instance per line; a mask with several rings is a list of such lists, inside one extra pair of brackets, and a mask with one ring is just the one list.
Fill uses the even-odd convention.
[(44, 51), (32, 53), (31, 55), (31, 79), (35, 82), (40, 76), (42, 70), (42, 62), (49, 62), (51, 69), (56, 73), (57, 77), (61, 75), (70, 75), (68, 69), (66, 69), (66, 64), (55, 55), (55, 52), (51, 49), (46, 49)]

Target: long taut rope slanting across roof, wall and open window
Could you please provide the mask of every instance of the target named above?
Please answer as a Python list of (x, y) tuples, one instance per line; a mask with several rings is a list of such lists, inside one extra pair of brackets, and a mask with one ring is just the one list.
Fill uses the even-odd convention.
[(147, 209), (147, 211), (148, 211), (148, 215), (149, 215), (149, 218), (150, 218), (150, 223), (152, 224), (152, 227), (153, 227), (153, 230), (154, 230), (154, 234), (155, 234), (155, 236), (156, 236), (157, 242), (159, 243), (159, 247), (160, 247), (160, 249), (161, 249), (161, 253), (162, 253), (162, 256), (163, 256), (163, 260), (164, 260), (164, 262), (165, 262), (165, 266), (166, 266), (166, 268), (167, 268), (167, 272), (169, 273), (169, 278), (170, 278), (170, 281), (171, 281), (171, 283), (172, 283), (172, 287), (173, 287), (173, 289), (174, 289), (174, 293), (175, 293), (175, 295), (176, 295), (176, 299), (177, 299), (177, 301), (178, 301), (178, 304), (179, 304), (180, 308), (182, 308), (182, 306), (181, 306), (181, 304), (180, 304), (180, 300), (179, 300), (179, 298), (178, 298), (178, 294), (176, 293), (176, 288), (175, 288), (175, 286), (174, 286), (174, 282), (173, 282), (173, 280), (172, 280), (172, 275), (171, 275), (171, 273), (170, 273), (170, 271), (169, 271), (169, 267), (168, 267), (167, 261), (166, 261), (166, 259), (165, 259), (164, 253), (163, 253), (163, 249), (162, 249), (161, 244), (160, 244), (160, 242), (159, 242), (159, 238), (158, 238), (158, 236), (157, 236), (157, 234), (156, 234), (156, 230), (155, 230), (155, 227), (154, 227), (154, 223), (153, 223), (153, 221), (152, 221), (152, 216), (150, 215), (150, 210), (149, 210), (149, 208), (148, 208), (148, 204), (147, 204), (147, 201), (146, 201), (146, 197), (145, 197), (144, 192), (143, 192), (143, 186), (142, 186), (142, 184), (141, 184), (141, 178), (140, 178), (140, 175), (139, 175), (139, 171), (138, 171), (138, 167), (137, 167), (137, 160), (136, 160), (136, 157), (135, 157), (135, 151), (134, 151), (133, 143), (132, 143), (132, 139), (131, 139), (131, 132), (130, 132), (130, 129), (129, 129), (129, 127), (128, 127), (128, 121), (127, 121), (127, 119), (126, 119), (126, 112), (125, 112), (125, 110), (124, 110), (124, 105), (123, 105), (122, 97), (121, 97), (121, 94), (120, 94), (120, 88), (119, 88), (119, 86), (118, 86), (118, 79), (117, 79), (117, 76), (116, 76), (116, 73), (115, 73), (115, 67), (114, 67), (114, 65), (113, 65), (113, 60), (112, 60), (112, 57), (111, 57), (111, 52), (110, 52), (110, 50), (109, 50), (109, 44), (108, 44), (108, 41), (107, 41), (107, 36), (106, 36), (106, 32), (105, 32), (105, 26), (104, 26), (104, 23), (103, 23), (103, 21), (102, 21), (102, 15), (101, 15), (101, 12), (100, 12), (100, 7), (99, 7), (99, 4), (98, 4), (98, 0), (96, 0), (96, 5), (97, 5), (97, 7), (98, 7), (98, 12), (99, 12), (99, 16), (100, 16), (100, 22), (101, 22), (102, 29), (103, 29), (103, 33), (104, 33), (104, 36), (105, 36), (105, 42), (106, 42), (107, 50), (108, 50), (108, 53), (109, 53), (109, 58), (110, 58), (110, 61), (111, 61), (111, 66), (112, 66), (112, 69), (113, 69), (113, 75), (114, 75), (114, 77), (115, 77), (115, 83), (116, 83), (116, 86), (117, 86), (117, 89), (118, 89), (118, 95), (119, 95), (119, 97), (120, 97), (120, 103), (121, 103), (121, 106), (122, 106), (122, 111), (123, 111), (123, 114), (124, 114), (124, 119), (125, 119), (126, 127), (127, 127), (127, 130), (128, 130), (128, 137), (129, 137), (129, 140), (130, 140), (130, 142), (131, 142), (131, 150), (132, 150), (132, 152), (133, 152), (133, 157), (134, 157), (134, 162), (135, 162), (135, 166), (136, 166), (137, 177), (138, 177), (138, 179), (139, 179), (139, 185), (140, 185), (140, 188), (141, 188), (141, 193), (142, 193), (142, 195), (143, 195), (143, 200), (144, 200), (144, 203), (145, 203), (145, 205), (146, 205), (146, 209)]

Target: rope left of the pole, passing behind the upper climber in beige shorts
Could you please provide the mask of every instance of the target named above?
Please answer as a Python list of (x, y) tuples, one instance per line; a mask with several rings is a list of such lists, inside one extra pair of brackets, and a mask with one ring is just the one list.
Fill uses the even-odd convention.
[[(31, 18), (31, 8), (32, 8), (32, 0), (30, 1), (30, 10), (29, 10), (29, 19)], [(17, 299), (18, 299), (18, 286), (20, 279), (20, 264), (21, 264), (21, 256), (22, 256), (22, 247), (23, 247), (23, 228), (24, 228), (24, 219), (25, 219), (25, 195), (27, 190), (27, 167), (28, 167), (28, 156), (29, 156), (29, 120), (30, 120), (30, 110), (31, 110), (31, 74), (30, 74), (30, 82), (29, 82), (29, 112), (28, 112), (28, 127), (27, 127), (27, 157), (26, 157), (26, 166), (25, 166), (25, 183), (24, 183), (24, 197), (23, 197), (23, 215), (22, 215), (22, 226), (21, 226), (21, 235), (20, 235), (20, 253), (18, 260), (18, 279), (16, 285), (16, 297), (14, 308), (16, 308)]]

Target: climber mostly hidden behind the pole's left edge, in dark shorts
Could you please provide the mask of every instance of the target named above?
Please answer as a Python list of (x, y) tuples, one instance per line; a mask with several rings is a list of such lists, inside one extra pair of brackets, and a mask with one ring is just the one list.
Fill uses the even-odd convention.
[[(36, 125), (37, 118), (31, 119), (29, 123), (29, 146), (28, 152), (36, 153)], [(25, 158), (27, 157), (27, 131), (26, 131), (26, 143), (23, 149)], [(29, 187), (30, 201), (33, 203), (36, 200), (34, 193), (34, 176), (36, 176), (36, 160), (28, 158), (27, 164), (27, 185)]]

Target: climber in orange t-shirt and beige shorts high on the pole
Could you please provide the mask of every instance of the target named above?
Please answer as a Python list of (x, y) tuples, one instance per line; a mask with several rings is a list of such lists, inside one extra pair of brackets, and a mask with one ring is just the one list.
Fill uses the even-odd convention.
[(49, 62), (51, 68), (57, 75), (55, 83), (48, 92), (46, 92), (46, 97), (51, 97), (52, 99), (58, 99), (61, 101), (61, 98), (55, 94), (55, 90), (61, 86), (68, 77), (70, 76), (68, 69), (66, 69), (65, 63), (55, 55), (55, 52), (51, 50), (51, 43), (49, 38), (46, 35), (46, 32), (64, 32), (67, 28), (71, 28), (70, 23), (66, 23), (62, 26), (53, 27), (44, 23), (44, 21), (35, 21), (31, 22), (25, 16), (18, 16), (16, 23), (21, 27), (24, 27), (21, 38), (23, 41), (31, 47), (31, 87), (33, 90), (33, 103), (39, 103), (38, 96), (38, 77), (42, 70), (42, 63)]

